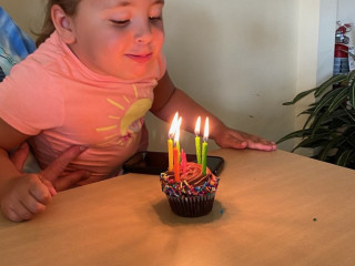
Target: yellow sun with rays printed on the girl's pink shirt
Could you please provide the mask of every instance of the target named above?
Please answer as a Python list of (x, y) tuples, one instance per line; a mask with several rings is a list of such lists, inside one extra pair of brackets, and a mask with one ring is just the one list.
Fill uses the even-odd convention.
[[(156, 85), (156, 80), (153, 81), (153, 84)], [(152, 100), (150, 98), (138, 100), (139, 91), (136, 85), (132, 84), (132, 89), (134, 91), (133, 99), (122, 95), (123, 101), (120, 103), (110, 98), (106, 99), (108, 103), (123, 111), (124, 115), (123, 117), (109, 115), (112, 124), (97, 127), (97, 132), (108, 134), (104, 136), (102, 143), (97, 144), (98, 146), (105, 146), (108, 144), (129, 145), (132, 142), (132, 137), (135, 136), (135, 133), (141, 130), (143, 124), (142, 117), (152, 106)]]

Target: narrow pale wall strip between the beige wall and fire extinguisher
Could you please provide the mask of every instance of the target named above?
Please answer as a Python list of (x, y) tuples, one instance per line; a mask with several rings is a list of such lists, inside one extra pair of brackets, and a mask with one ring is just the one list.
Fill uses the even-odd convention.
[[(337, 1), (300, 0), (298, 4), (296, 94), (320, 85), (333, 74)], [(303, 129), (307, 116), (298, 114), (314, 100), (311, 94), (295, 105), (295, 130)], [(300, 149), (296, 152), (312, 155), (312, 150)]]

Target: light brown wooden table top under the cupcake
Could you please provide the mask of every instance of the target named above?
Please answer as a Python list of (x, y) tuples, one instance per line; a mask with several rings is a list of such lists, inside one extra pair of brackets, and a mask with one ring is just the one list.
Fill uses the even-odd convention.
[(283, 151), (219, 150), (212, 213), (174, 215), (159, 177), (59, 193), (26, 223), (0, 215), (0, 265), (355, 265), (355, 172)]

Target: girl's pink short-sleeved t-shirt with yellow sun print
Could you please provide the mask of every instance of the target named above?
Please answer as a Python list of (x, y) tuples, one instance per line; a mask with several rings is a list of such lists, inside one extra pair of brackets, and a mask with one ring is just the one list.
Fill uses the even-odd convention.
[(0, 117), (33, 135), (41, 167), (71, 145), (87, 146), (68, 172), (89, 170), (94, 180), (119, 173), (134, 154), (153, 89), (165, 73), (161, 55), (140, 80), (120, 80), (83, 65), (54, 32), (0, 83)]

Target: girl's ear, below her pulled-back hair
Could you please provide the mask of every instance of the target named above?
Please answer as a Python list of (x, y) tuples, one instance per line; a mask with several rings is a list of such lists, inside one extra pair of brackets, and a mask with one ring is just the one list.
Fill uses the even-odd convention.
[(67, 44), (74, 43), (75, 31), (73, 29), (72, 19), (68, 17), (64, 10), (58, 4), (53, 4), (51, 16), (55, 30), (62, 41)]

